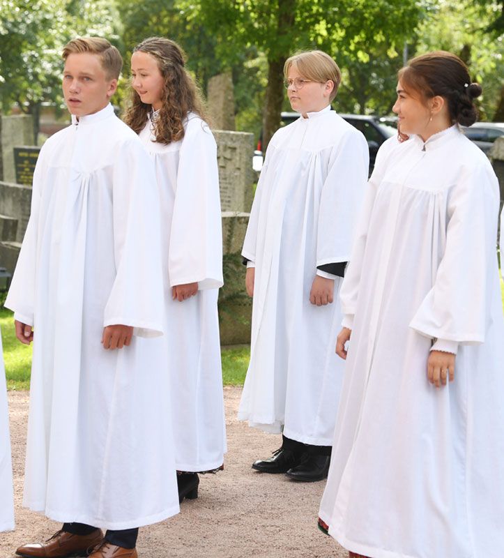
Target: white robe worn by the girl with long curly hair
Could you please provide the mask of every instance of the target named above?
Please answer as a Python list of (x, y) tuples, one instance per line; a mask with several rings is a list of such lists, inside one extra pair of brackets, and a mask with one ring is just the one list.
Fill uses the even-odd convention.
[[(222, 287), (222, 222), (217, 145), (204, 121), (188, 114), (179, 142), (155, 142), (148, 119), (140, 139), (155, 165), (165, 279), (163, 346), (179, 471), (222, 465), (226, 448), (217, 296)], [(179, 302), (171, 287), (197, 282)], [(167, 392), (168, 393), (168, 392)]]

